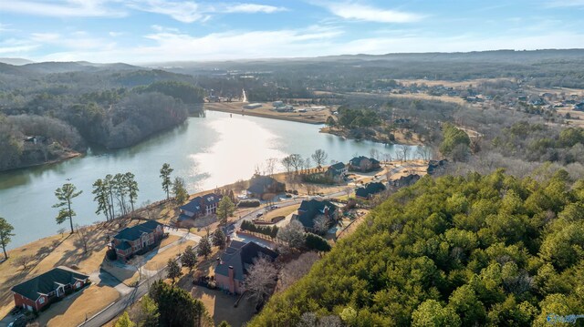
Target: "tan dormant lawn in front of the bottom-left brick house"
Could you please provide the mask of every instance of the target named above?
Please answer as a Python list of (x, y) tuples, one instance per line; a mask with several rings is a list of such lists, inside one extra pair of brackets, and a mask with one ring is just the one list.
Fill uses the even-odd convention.
[(36, 322), (41, 326), (78, 326), (85, 321), (86, 314), (91, 317), (119, 297), (120, 293), (109, 286), (90, 285), (53, 303), (47, 311), (40, 312)]

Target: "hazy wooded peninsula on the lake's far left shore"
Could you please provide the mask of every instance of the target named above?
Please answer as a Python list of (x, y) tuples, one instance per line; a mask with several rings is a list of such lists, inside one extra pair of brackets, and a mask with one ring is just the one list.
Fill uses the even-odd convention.
[(35, 67), (44, 70), (18, 66), (15, 83), (0, 83), (0, 170), (69, 158), (91, 144), (129, 147), (200, 112), (204, 98), (192, 77), (169, 72)]

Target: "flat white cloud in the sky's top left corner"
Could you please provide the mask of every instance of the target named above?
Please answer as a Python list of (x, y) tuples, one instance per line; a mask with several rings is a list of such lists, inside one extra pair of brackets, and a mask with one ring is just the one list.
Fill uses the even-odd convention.
[(108, 0), (57, 0), (53, 3), (47, 3), (46, 1), (34, 0), (3, 0), (0, 1), (0, 11), (55, 17), (121, 17), (126, 15), (121, 10), (107, 7), (108, 2)]

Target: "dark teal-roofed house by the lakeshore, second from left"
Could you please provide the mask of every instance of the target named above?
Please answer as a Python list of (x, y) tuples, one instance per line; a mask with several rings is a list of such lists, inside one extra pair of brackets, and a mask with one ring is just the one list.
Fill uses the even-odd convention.
[(164, 230), (156, 220), (120, 230), (111, 240), (110, 248), (116, 250), (118, 259), (126, 260), (140, 250), (147, 250), (162, 240)]

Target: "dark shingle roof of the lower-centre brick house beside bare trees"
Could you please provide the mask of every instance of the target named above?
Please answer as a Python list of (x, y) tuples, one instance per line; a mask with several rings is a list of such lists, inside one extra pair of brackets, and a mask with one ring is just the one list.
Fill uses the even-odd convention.
[(275, 251), (267, 249), (254, 241), (244, 243), (233, 240), (221, 256), (221, 263), (215, 267), (215, 274), (229, 276), (229, 266), (233, 266), (234, 279), (244, 281), (245, 273), (260, 255), (271, 258), (271, 260), (277, 257)]

